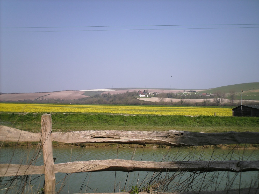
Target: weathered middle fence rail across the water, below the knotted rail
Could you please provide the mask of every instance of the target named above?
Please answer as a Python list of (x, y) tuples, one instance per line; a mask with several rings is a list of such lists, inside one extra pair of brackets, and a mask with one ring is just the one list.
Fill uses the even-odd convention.
[[(44, 166), (0, 164), (0, 176), (44, 174)], [(147, 162), (134, 160), (90, 160), (55, 164), (54, 173), (82, 173), (96, 171), (152, 171), (152, 172), (212, 172), (259, 171), (259, 161), (173, 161)]]

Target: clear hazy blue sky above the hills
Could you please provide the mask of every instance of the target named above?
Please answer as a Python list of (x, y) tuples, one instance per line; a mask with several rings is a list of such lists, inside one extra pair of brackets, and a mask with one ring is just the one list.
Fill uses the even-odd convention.
[(1, 0), (0, 26), (3, 93), (259, 81), (259, 1)]

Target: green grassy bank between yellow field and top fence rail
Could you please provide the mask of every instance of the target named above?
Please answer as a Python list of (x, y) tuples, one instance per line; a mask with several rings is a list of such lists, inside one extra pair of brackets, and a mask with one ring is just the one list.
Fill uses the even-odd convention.
[[(1, 113), (0, 124), (31, 132), (40, 132), (42, 114)], [(81, 130), (142, 130), (191, 132), (259, 132), (259, 117), (52, 114), (54, 132)]]

